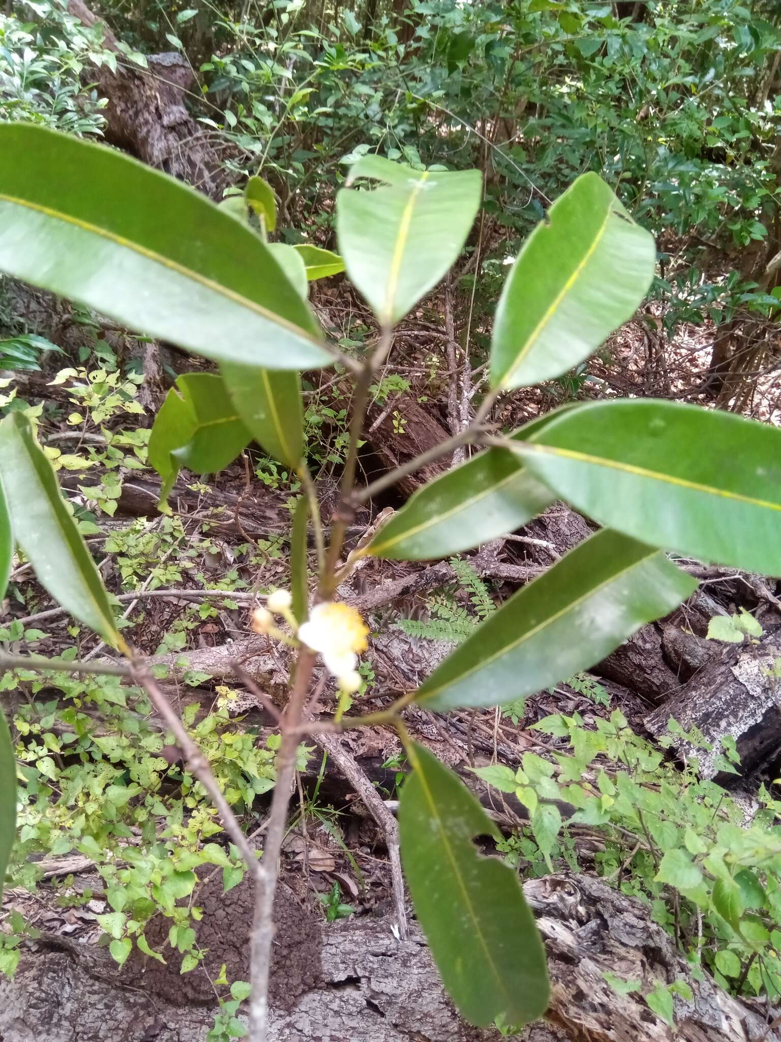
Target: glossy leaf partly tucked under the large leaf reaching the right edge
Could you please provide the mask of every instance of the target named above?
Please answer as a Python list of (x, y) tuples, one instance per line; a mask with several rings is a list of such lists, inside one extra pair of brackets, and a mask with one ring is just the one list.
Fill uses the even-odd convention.
[[(569, 406), (564, 406), (569, 407)], [(531, 438), (559, 415), (532, 420), (513, 439)], [(376, 557), (423, 561), (471, 550), (531, 521), (555, 499), (506, 449), (487, 449), (419, 489), (367, 548)]]

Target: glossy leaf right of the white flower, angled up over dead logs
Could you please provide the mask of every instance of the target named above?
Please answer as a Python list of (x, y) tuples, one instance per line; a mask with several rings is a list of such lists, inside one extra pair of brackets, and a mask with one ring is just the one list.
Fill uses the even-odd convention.
[(445, 711), (531, 695), (601, 662), (696, 587), (658, 550), (598, 531), (481, 623), (415, 701)]

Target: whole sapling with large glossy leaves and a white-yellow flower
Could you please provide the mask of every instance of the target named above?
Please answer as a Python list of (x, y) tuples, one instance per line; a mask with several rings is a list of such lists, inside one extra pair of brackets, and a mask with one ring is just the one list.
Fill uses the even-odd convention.
[[(781, 572), (777, 429), (650, 399), (569, 404), (508, 435), (494, 422), (500, 396), (582, 364), (632, 316), (651, 284), (651, 235), (594, 173), (551, 205), (509, 271), (496, 308), (487, 390), (472, 420), (361, 483), (367, 406), (393, 357), (395, 326), (458, 258), (481, 204), (481, 177), (369, 153), (353, 158), (336, 197), (338, 264), (371, 308), (377, 334), (364, 349), (348, 351), (326, 341), (307, 303), (308, 280), (337, 262), (329, 268), (316, 263), (322, 257), (267, 242), (273, 194), (256, 178), (236, 219), (116, 151), (41, 127), (0, 126), (0, 269), (217, 363), (215, 372), (180, 376), (155, 419), (149, 460), (162, 480), (162, 507), (169, 508), (180, 468), (212, 473), (253, 440), (301, 481), (289, 590), (272, 592), (248, 623), (295, 653), (284, 710), (268, 704), (280, 740), (259, 858), (203, 749), (144, 655), (120, 632), (28, 419), (15, 412), (0, 422), (0, 580), (16, 546), (50, 595), (125, 658), (126, 665), (104, 668), (146, 692), (251, 873), (253, 1042), (269, 1037), (274, 894), (297, 750), (307, 736), (332, 738), (366, 725), (398, 730), (411, 772), (401, 788), (398, 835), (393, 821), (381, 825), (392, 864), (401, 848), (412, 907), (443, 982), (473, 1024), (527, 1023), (545, 1013), (549, 990), (545, 951), (518, 875), (474, 844), (499, 838), (495, 824), (456, 775), (409, 737), (405, 708), (507, 704), (587, 669), (696, 589), (664, 551)], [(255, 227), (248, 207), (262, 218)], [(352, 380), (353, 394), (339, 499), (326, 519), (306, 465), (300, 373), (329, 366)], [(359, 505), (457, 447), (473, 454), (348, 544)], [(415, 690), (377, 712), (353, 713), (350, 696), (360, 685), (369, 628), (339, 588), (358, 561), (458, 554), (525, 525), (556, 499), (599, 530), (496, 611), (478, 613), (474, 631)], [(0, 666), (19, 665), (20, 658), (0, 656)], [(74, 672), (83, 666), (32, 656), (21, 656), (21, 665)], [(336, 713), (313, 719), (329, 685)], [(0, 753), (9, 779), (0, 787), (6, 858), (14, 828), (6, 729)], [(534, 813), (548, 814), (547, 805)], [(403, 937), (400, 883), (396, 917)]]

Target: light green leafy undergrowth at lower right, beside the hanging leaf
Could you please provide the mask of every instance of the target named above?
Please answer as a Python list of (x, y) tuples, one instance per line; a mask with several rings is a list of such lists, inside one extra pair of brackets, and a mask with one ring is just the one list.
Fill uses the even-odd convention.
[[(597, 871), (653, 909), (653, 919), (678, 939), (695, 965), (710, 968), (727, 989), (781, 996), (781, 877), (774, 822), (778, 801), (762, 787), (750, 825), (739, 801), (722, 786), (698, 777), (698, 756), (713, 754), (722, 772), (736, 775), (734, 741), (713, 749), (696, 730), (670, 721), (683, 737), (685, 768), (633, 734), (620, 712), (584, 726), (579, 714), (546, 717), (534, 728), (556, 751), (528, 752), (517, 770), (475, 768), (488, 785), (513, 793), (529, 810), (529, 827), (506, 841), (506, 860), (532, 874), (556, 865), (581, 871), (579, 826), (605, 840)], [(558, 802), (556, 802), (558, 801)], [(559, 810), (562, 808), (562, 810)], [(639, 982), (610, 979), (616, 991)], [(653, 1007), (652, 1007), (653, 1008)], [(673, 1022), (672, 1002), (664, 1019)]]

